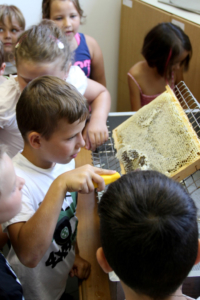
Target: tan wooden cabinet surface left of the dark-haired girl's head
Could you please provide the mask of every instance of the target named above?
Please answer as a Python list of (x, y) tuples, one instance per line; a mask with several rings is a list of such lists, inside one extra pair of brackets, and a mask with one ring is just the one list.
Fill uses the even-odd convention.
[(133, 0), (132, 8), (122, 5), (118, 79), (127, 87), (118, 86), (117, 111), (127, 111), (125, 104), (130, 102), (127, 73), (135, 63), (144, 59), (141, 49), (145, 35), (158, 23), (170, 20), (171, 14), (141, 1)]

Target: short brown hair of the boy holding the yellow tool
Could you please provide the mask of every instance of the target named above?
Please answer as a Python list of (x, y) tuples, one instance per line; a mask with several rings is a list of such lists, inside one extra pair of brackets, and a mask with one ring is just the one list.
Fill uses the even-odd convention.
[(48, 140), (59, 120), (69, 124), (88, 117), (85, 98), (74, 86), (55, 76), (41, 76), (23, 90), (16, 106), (18, 128), (27, 141), (27, 133), (36, 131)]

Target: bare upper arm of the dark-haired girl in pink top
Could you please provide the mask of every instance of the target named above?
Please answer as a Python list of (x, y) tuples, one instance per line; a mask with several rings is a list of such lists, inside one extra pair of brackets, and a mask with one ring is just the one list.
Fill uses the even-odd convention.
[(137, 111), (141, 108), (140, 91), (130, 76), (128, 76), (128, 87), (131, 102), (131, 110)]

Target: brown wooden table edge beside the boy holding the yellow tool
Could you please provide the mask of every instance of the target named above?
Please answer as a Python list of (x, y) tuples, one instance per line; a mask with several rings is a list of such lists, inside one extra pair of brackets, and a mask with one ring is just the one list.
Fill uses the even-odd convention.
[[(76, 158), (76, 167), (87, 163), (92, 164), (91, 152), (81, 149)], [(102, 271), (96, 260), (96, 250), (100, 247), (97, 206), (94, 193), (78, 195), (77, 217), (79, 225), (77, 241), (80, 255), (92, 265), (89, 278), (80, 284), (79, 293), (82, 300), (111, 299), (108, 275)]]

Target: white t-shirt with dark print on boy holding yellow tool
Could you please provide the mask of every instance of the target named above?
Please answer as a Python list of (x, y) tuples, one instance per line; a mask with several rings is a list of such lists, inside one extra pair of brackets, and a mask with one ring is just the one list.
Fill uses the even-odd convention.
[[(13, 158), (13, 163), (16, 174), (25, 178), (26, 182), (22, 189), (22, 210), (9, 222), (2, 224), (4, 231), (7, 231), (10, 224), (28, 221), (39, 208), (53, 180), (75, 168), (72, 160), (65, 165), (56, 164), (50, 169), (41, 169), (21, 153)], [(73, 200), (71, 194), (67, 193), (63, 199), (53, 241), (37, 267), (27, 268), (22, 265), (12, 247), (8, 253), (7, 260), (22, 284), (25, 299), (57, 300), (65, 290), (75, 257), (73, 243), (78, 223), (75, 216), (76, 199), (74, 197)]]

